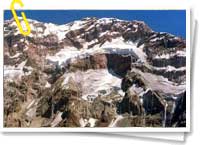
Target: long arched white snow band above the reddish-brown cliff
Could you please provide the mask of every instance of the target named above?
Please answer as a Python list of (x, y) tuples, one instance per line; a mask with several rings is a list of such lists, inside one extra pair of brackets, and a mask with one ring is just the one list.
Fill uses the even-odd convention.
[(142, 62), (146, 62), (146, 54), (143, 52), (143, 45), (137, 47), (136, 43), (130, 41), (125, 42), (122, 37), (113, 39), (111, 42), (106, 42), (102, 46), (95, 45), (93, 48), (87, 49), (90, 44), (96, 43), (97, 40), (87, 42), (84, 48), (78, 50), (74, 47), (65, 47), (54, 56), (47, 55), (46, 59), (49, 63), (65, 65), (75, 59), (85, 58), (95, 53), (116, 53), (122, 55), (136, 55)]

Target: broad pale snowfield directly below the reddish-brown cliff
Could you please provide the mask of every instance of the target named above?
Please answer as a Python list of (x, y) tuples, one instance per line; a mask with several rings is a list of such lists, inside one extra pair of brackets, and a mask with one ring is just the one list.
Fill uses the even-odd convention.
[(113, 87), (121, 88), (122, 80), (113, 76), (107, 69), (67, 73), (62, 85), (67, 85), (71, 77), (77, 84), (81, 84), (82, 98), (84, 100), (88, 100), (88, 96), (97, 97), (102, 90), (110, 93)]

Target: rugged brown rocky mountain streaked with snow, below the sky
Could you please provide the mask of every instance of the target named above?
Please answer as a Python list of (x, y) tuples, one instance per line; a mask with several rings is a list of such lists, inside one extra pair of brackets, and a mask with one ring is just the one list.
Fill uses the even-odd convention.
[(185, 127), (186, 44), (141, 21), (4, 23), (5, 127)]

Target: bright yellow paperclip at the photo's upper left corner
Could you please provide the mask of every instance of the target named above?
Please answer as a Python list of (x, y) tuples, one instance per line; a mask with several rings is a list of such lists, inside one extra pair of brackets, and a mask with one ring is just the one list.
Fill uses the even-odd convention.
[(23, 18), (23, 20), (24, 20), (24, 22), (25, 22), (26, 29), (27, 29), (26, 31), (23, 30), (22, 25), (21, 25), (21, 23), (20, 23), (20, 21), (19, 21), (19, 19), (18, 19), (17, 13), (16, 13), (16, 11), (15, 11), (15, 7), (14, 7), (14, 6), (15, 6), (16, 3), (18, 3), (21, 7), (24, 6), (24, 4), (22, 3), (21, 0), (13, 0), (12, 3), (11, 3), (11, 5), (10, 5), (10, 9), (11, 9), (12, 14), (13, 14), (13, 17), (14, 17), (16, 23), (17, 23), (17, 26), (18, 26), (18, 28), (19, 28), (19, 31), (20, 31), (21, 34), (23, 34), (24, 36), (27, 36), (27, 35), (29, 35), (29, 34), (31, 33), (31, 27), (30, 27), (30, 25), (29, 25), (29, 23), (28, 23), (28, 21), (27, 21), (27, 18), (26, 18), (25, 13), (24, 13), (24, 12), (21, 12), (22, 18)]

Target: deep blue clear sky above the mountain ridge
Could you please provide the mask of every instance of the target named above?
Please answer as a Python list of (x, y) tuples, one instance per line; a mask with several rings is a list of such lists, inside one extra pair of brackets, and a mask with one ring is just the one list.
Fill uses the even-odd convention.
[[(85, 17), (114, 17), (122, 20), (140, 20), (154, 31), (168, 32), (186, 38), (185, 10), (24, 10), (27, 18), (42, 22), (65, 24)], [(20, 11), (17, 11), (20, 16)], [(4, 11), (4, 19), (13, 16)]]

